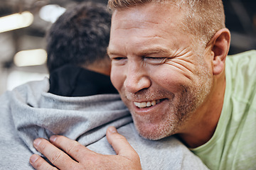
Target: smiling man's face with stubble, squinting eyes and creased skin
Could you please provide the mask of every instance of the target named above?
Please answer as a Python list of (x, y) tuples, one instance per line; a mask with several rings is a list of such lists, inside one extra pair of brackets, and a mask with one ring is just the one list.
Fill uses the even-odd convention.
[(160, 4), (112, 16), (112, 84), (139, 134), (150, 140), (186, 132), (213, 86), (203, 50), (195, 50), (192, 36), (178, 29), (182, 17), (178, 8)]

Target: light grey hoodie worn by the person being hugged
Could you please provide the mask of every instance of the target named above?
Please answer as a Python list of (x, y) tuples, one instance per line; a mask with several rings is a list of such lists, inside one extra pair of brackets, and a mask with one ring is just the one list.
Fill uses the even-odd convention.
[[(117, 94), (63, 97), (47, 93), (48, 79), (31, 81), (0, 97), (0, 169), (33, 169), (37, 137), (65, 135), (100, 154), (115, 154), (105, 132), (110, 125), (127, 137), (142, 169), (207, 169), (175, 137), (150, 141), (139, 137)], [(85, 158), (86, 159), (86, 158)]]

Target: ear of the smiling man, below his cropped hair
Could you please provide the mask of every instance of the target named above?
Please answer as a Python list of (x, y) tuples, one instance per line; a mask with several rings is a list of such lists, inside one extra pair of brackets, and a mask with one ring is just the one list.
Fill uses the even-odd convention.
[(210, 40), (208, 45), (213, 52), (213, 74), (218, 75), (223, 72), (225, 67), (225, 58), (230, 48), (230, 31), (227, 28), (218, 30)]

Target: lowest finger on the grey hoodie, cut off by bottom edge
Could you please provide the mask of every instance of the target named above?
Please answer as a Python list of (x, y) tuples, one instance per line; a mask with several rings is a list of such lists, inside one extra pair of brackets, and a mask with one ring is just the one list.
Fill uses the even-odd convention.
[(51, 166), (45, 159), (37, 154), (33, 154), (30, 157), (29, 162), (36, 170), (56, 170), (55, 167)]

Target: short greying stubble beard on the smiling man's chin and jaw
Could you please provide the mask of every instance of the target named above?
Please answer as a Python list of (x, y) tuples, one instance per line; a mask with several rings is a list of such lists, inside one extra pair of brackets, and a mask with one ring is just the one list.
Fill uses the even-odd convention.
[[(189, 92), (188, 92), (189, 91)], [(143, 120), (151, 120), (151, 115), (137, 115), (132, 113), (134, 125), (139, 135), (147, 140), (160, 140), (161, 138), (174, 135), (181, 130), (181, 127), (191, 118), (192, 113), (196, 110), (196, 96), (193, 95), (188, 87), (183, 87), (181, 97), (178, 97), (175, 103), (169, 103), (165, 118), (157, 125), (154, 124), (150, 129), (146, 129)], [(156, 113), (157, 114), (157, 113)], [(146, 121), (150, 123), (149, 121)]]

